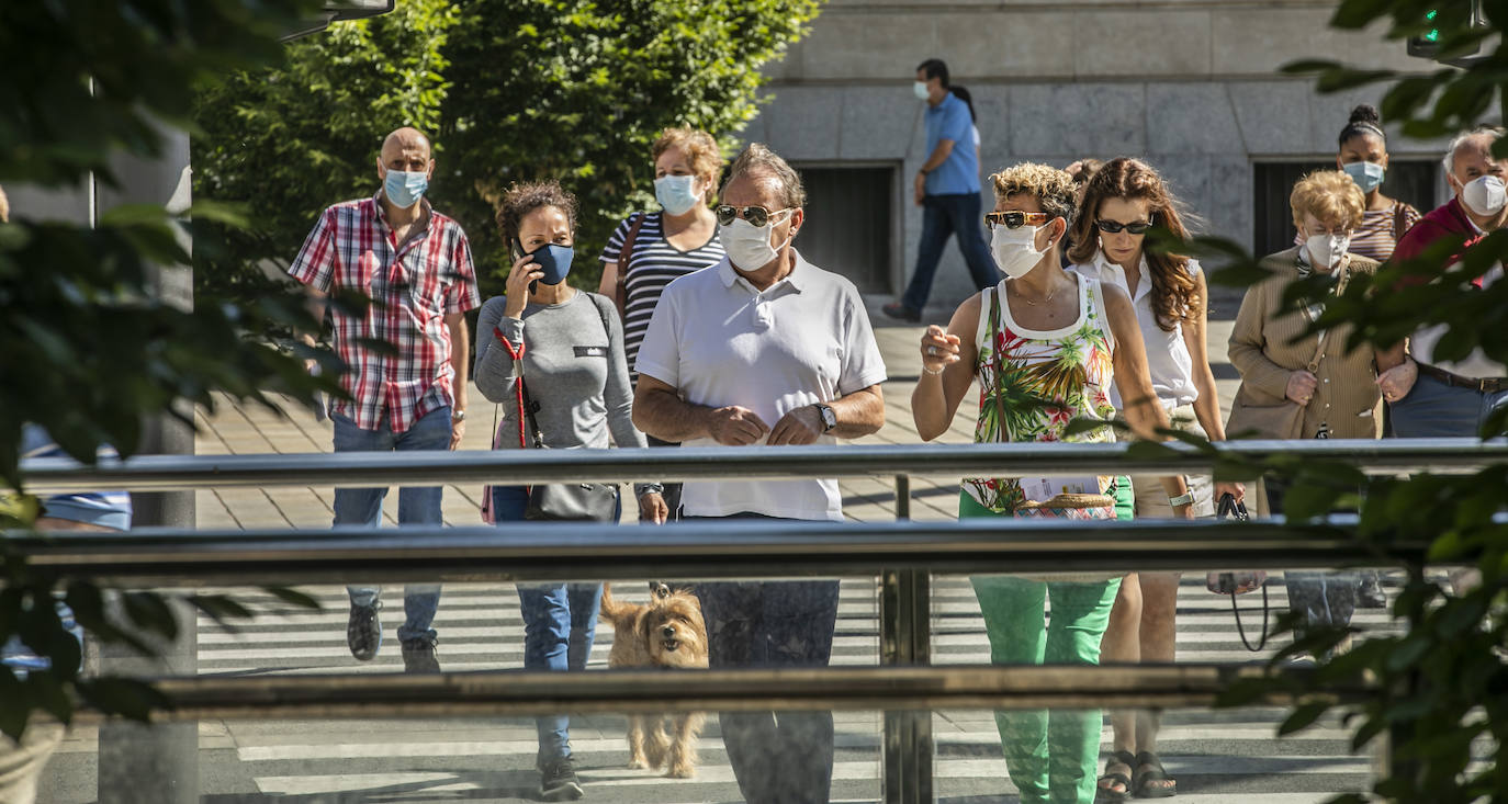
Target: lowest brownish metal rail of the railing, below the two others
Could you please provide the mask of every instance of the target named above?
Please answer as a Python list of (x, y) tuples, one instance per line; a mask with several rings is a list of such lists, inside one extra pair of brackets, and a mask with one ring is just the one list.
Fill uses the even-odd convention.
[[(199, 676), (152, 680), (173, 701), (172, 709), (155, 710), (152, 718), (1208, 707), (1231, 683), (1268, 673), (1295, 682), (1310, 674), (1295, 667), (1270, 671), (1259, 665), (1179, 664)], [(1339, 701), (1362, 701), (1375, 697), (1377, 689), (1363, 680), (1348, 680), (1329, 685), (1327, 694)], [(1250, 706), (1283, 706), (1294, 700), (1292, 692), (1274, 685)]]

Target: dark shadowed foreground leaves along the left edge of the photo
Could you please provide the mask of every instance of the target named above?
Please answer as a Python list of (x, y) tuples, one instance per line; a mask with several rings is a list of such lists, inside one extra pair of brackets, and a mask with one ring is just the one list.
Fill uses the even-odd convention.
[[(92, 175), (118, 186), (124, 157), (164, 152), (164, 131), (190, 122), (195, 92), (211, 75), (253, 69), (280, 54), (277, 36), (312, 17), (308, 0), (54, 0), (0, 3), (0, 184), (74, 189)], [(311, 401), (333, 391), (300, 361), (247, 341), (277, 321), (308, 326), (299, 305), (255, 300), (193, 309), (157, 297), (157, 269), (187, 265), (182, 211), (161, 204), (107, 210), (95, 226), (38, 220), (24, 208), (0, 223), (0, 483), (21, 490), (21, 427), (45, 427), (71, 456), (140, 448), (142, 422), (184, 416), (181, 403), (214, 406), (214, 392), (274, 404), (284, 391)], [(199, 220), (234, 222), (205, 204)], [(333, 368), (333, 367), (332, 367)], [(0, 529), (24, 528), (33, 498), (3, 493)], [(59, 579), (18, 560), (0, 539), (0, 643), (20, 635), (53, 659), (23, 677), (0, 665), (0, 730), (18, 735), (35, 709), (62, 721), (74, 697), (143, 717), (160, 703), (127, 679), (80, 679), (78, 643), (63, 631), (51, 590)], [(176, 629), (151, 593), (124, 597), (124, 618), (104, 594), (72, 582), (66, 599), (100, 640), (146, 647)], [(216, 605), (210, 602), (208, 605)]]

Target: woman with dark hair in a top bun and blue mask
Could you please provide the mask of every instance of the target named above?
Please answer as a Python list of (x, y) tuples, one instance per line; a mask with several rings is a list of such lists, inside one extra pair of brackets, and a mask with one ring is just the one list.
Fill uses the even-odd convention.
[(1353, 109), (1351, 121), (1341, 130), (1339, 145), (1336, 167), (1345, 170), (1366, 196), (1362, 225), (1351, 234), (1351, 253), (1386, 262), (1398, 240), (1419, 220), (1419, 210), (1383, 195), (1387, 134), (1383, 133), (1377, 107), (1362, 104)]

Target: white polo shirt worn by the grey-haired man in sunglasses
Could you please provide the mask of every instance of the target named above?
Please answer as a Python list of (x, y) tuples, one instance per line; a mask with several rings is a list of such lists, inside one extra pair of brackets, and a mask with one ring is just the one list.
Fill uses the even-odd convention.
[[(798, 407), (885, 382), (858, 288), (793, 253), (795, 270), (763, 293), (727, 258), (671, 282), (644, 333), (636, 371), (694, 404), (748, 407), (769, 427)], [(817, 443), (837, 439), (820, 436)], [(682, 504), (688, 516), (843, 519), (835, 480), (688, 483)]]

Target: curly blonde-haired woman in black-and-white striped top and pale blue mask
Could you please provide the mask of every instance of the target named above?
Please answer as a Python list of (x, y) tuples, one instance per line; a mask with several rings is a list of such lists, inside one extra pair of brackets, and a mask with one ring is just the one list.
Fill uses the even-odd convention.
[[(680, 276), (722, 261), (718, 220), (707, 204), (718, 193), (722, 154), (712, 134), (667, 128), (653, 148), (654, 199), (662, 211), (633, 213), (618, 223), (602, 250), (597, 293), (618, 300), (629, 380), (638, 385), (635, 361), (661, 293)], [(627, 246), (624, 246), (627, 244)], [(620, 265), (626, 270), (621, 272)], [(650, 446), (680, 446), (648, 436)], [(665, 486), (671, 517), (679, 519), (680, 483)]]

